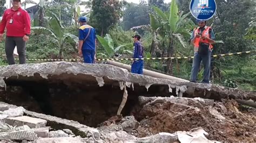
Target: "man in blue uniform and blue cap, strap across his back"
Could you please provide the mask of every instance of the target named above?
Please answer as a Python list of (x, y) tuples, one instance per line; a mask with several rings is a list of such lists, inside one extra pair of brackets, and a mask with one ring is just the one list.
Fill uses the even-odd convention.
[(85, 63), (95, 63), (96, 60), (96, 32), (95, 28), (86, 24), (86, 17), (79, 18), (78, 54)]

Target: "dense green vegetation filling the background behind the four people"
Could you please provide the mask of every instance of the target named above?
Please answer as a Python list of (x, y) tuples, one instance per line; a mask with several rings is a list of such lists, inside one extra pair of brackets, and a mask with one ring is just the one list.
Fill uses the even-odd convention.
[[(213, 54), (253, 51), (256, 39), (255, 1), (216, 0), (217, 13), (208, 20), (219, 41)], [(26, 46), (29, 59), (78, 58), (77, 19), (89, 18), (96, 28), (97, 58), (132, 56), (134, 33), (142, 35), (146, 57), (191, 56), (190, 33), (197, 26), (189, 13), (190, 1), (151, 0), (134, 4), (107, 0), (45, 2), (32, 18), (32, 35)], [(89, 9), (80, 12), (80, 8)], [(0, 3), (0, 16), (3, 14)], [(177, 15), (178, 13), (178, 15)], [(0, 43), (4, 54), (4, 42)], [(255, 54), (255, 53), (254, 53)], [(223, 56), (212, 59), (211, 81), (227, 87), (256, 90), (256, 56), (254, 54)], [(124, 61), (130, 64), (131, 61)], [(150, 60), (145, 68), (153, 68), (182, 78), (189, 78), (191, 60)], [(1, 65), (6, 65), (2, 58)], [(199, 73), (199, 80), (202, 71)]]

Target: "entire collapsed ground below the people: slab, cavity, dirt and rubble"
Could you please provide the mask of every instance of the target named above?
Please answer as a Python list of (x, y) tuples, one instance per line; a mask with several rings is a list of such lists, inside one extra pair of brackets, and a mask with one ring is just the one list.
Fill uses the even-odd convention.
[(69, 62), (0, 67), (0, 87), (2, 142), (256, 141), (251, 91)]

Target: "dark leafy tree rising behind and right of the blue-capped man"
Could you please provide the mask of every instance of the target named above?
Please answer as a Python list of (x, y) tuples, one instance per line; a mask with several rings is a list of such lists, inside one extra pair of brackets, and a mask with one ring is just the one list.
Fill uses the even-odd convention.
[(123, 4), (119, 1), (93, 0), (90, 25), (104, 35), (112, 25), (119, 22), (122, 17)]

